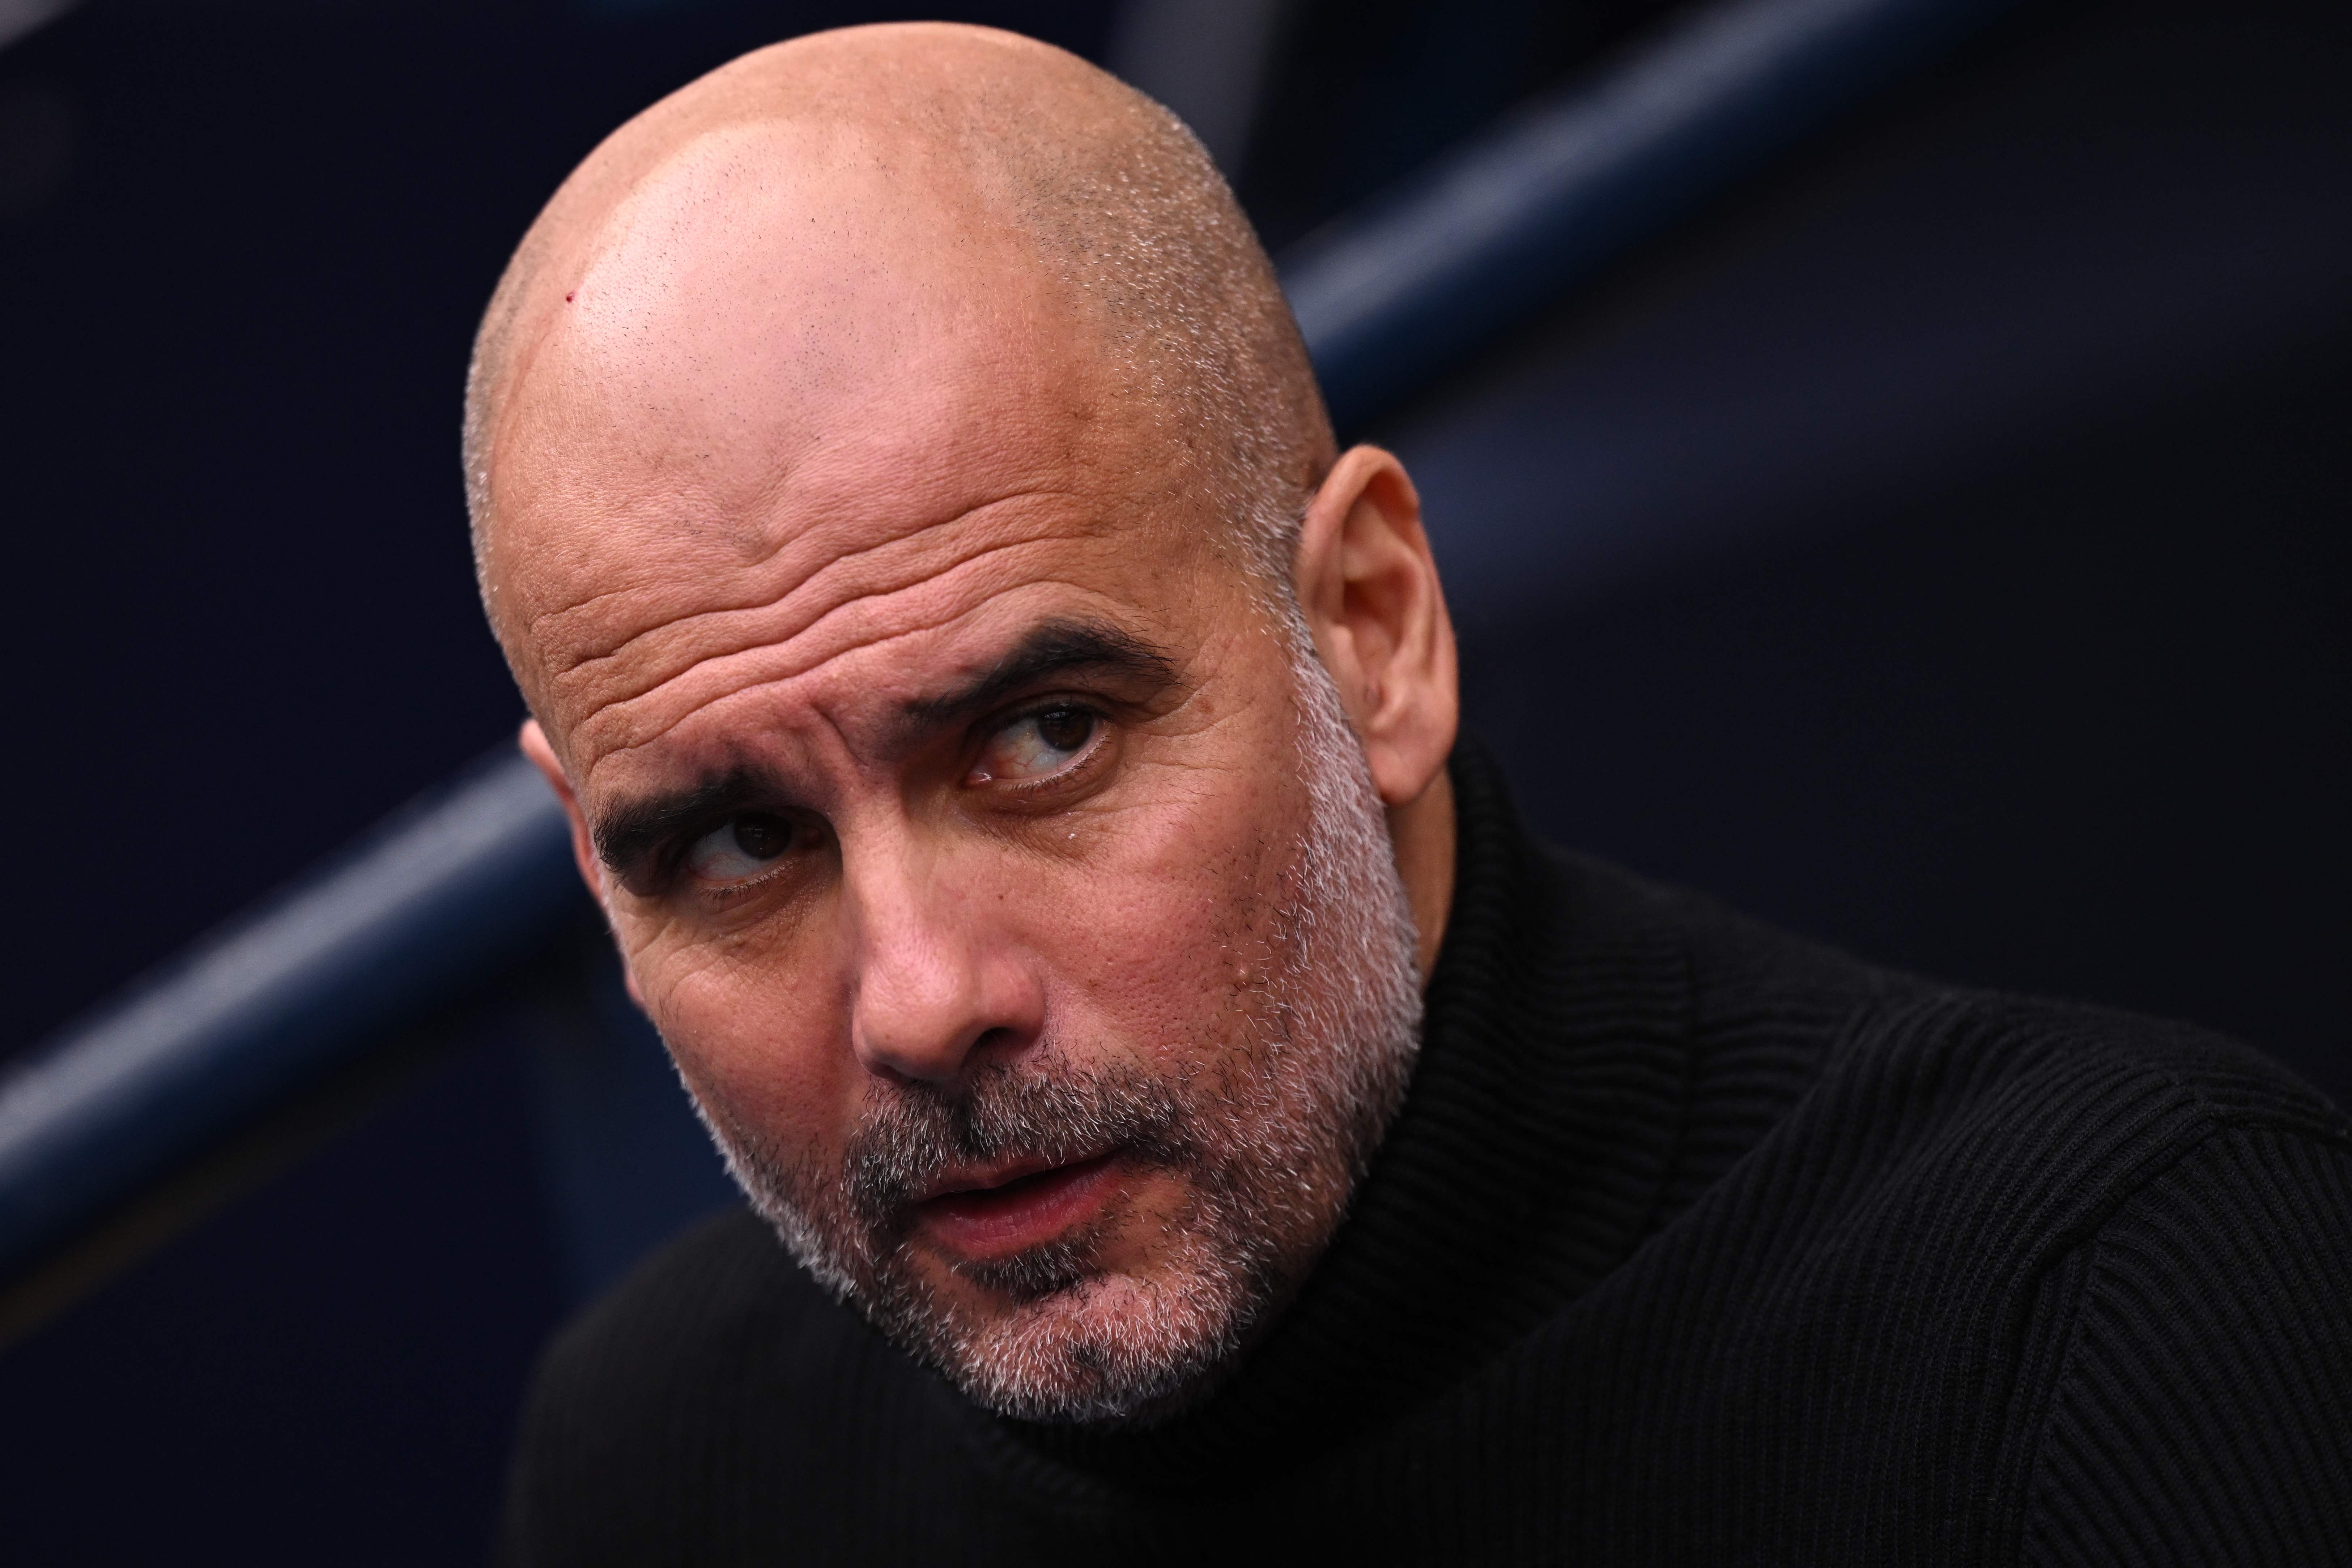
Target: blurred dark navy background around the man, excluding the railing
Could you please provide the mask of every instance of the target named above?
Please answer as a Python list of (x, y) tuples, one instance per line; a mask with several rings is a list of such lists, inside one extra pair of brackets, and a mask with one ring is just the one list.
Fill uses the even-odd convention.
[[(953, 14), (1183, 108), (1143, 7)], [(1668, 7), (1240, 12), (1254, 89), (1195, 113), (1279, 249)], [(89, 0), (0, 49), (0, 1051), (513, 729), (454, 454), (508, 247), (654, 96), (880, 14)], [(1359, 433), (1531, 816), (2352, 1098), (2347, 80), (2340, 5), (2025, 5)], [(550, 1114), (562, 1009), (619, 1009), (576, 990), (517, 978), (0, 1349), (0, 1556), (480, 1556), (529, 1356), (614, 1265)]]

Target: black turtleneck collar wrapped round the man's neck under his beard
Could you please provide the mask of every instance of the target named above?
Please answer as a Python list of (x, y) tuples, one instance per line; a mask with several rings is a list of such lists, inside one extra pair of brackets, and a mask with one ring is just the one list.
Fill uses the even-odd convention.
[(1421, 1058), (1322, 1262), (1218, 1392), (1164, 1425), (964, 1406), (1000, 1465), (1080, 1493), (1263, 1481), (1508, 1347), (1642, 1239), (1689, 1093), (1682, 940), (1531, 844), (1475, 741), (1451, 776), (1454, 907)]

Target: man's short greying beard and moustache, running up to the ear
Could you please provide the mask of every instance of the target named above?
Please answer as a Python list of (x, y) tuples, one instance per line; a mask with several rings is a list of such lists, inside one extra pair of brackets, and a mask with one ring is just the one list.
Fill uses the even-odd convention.
[[(1296, 628), (1294, 646), (1305, 646)], [(1287, 877), (1282, 961), (1249, 1051), (1181, 1081), (1044, 1053), (953, 1088), (877, 1086), (837, 1166), (779, 1159), (699, 1105), (727, 1166), (793, 1255), (971, 1401), (1049, 1422), (1150, 1422), (1207, 1394), (1298, 1291), (1388, 1124), (1421, 1039), (1411, 907), (1364, 752), (1312, 654), (1296, 654), (1308, 827)], [(1094, 1253), (1122, 1218), (960, 1274), (995, 1321), (936, 1291), (910, 1253), (915, 1199), (1007, 1154), (1065, 1164), (1108, 1147), (1183, 1178), (1167, 1262), (1115, 1326)]]

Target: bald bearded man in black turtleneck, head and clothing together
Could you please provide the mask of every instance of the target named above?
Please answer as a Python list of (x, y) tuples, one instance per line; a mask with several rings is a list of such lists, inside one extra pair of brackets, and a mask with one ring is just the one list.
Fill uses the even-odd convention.
[(2352, 1561), (2352, 1128), (1529, 844), (1411, 482), (1110, 78), (687, 87), (466, 435), (750, 1197), (550, 1352), (510, 1561)]

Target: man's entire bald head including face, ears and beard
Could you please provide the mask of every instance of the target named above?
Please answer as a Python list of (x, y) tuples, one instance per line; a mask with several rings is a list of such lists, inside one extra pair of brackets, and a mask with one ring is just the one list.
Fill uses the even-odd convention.
[(746, 1194), (990, 1408), (1202, 1396), (1402, 1095), (1456, 705), (1414, 487), (1200, 143), (1004, 33), (753, 54), (548, 205), (466, 449), (522, 748)]

